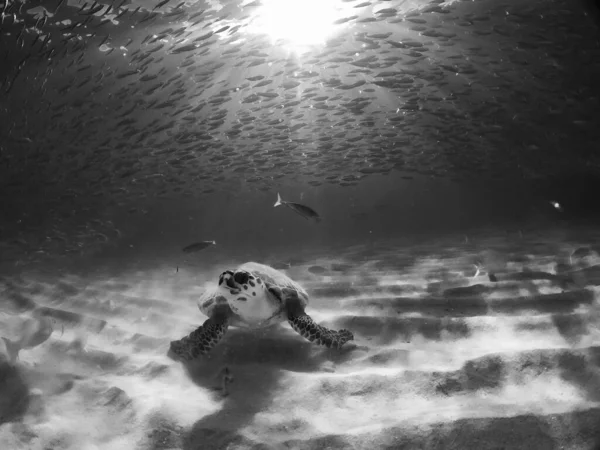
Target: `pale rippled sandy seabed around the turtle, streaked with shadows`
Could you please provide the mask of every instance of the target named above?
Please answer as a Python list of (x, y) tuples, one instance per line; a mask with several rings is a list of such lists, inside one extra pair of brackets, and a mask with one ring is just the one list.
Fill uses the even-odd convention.
[(597, 253), (525, 238), (482, 247), (260, 261), (355, 340), (328, 350), (287, 324), (230, 328), (189, 365), (169, 342), (205, 320), (195, 299), (245, 259), (7, 276), (0, 336), (29, 345), (14, 362), (0, 345), (0, 448), (600, 448)]

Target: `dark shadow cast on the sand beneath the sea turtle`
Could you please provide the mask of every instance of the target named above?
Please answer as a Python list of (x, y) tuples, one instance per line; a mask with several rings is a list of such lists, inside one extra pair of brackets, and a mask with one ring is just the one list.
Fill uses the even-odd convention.
[[(214, 389), (223, 403), (218, 412), (192, 426), (184, 437), (183, 448), (257, 445), (243, 435), (243, 429), (251, 425), (257, 414), (268, 411), (273, 398), (286, 389), (281, 385), (281, 374), (286, 371), (331, 372), (331, 365), (349, 359), (354, 348), (353, 344), (341, 350), (321, 348), (279, 326), (259, 331), (230, 329), (209, 357), (185, 364), (193, 382), (205, 389)], [(234, 377), (226, 396), (215, 389), (221, 386), (218, 374), (224, 367), (228, 367)]]

